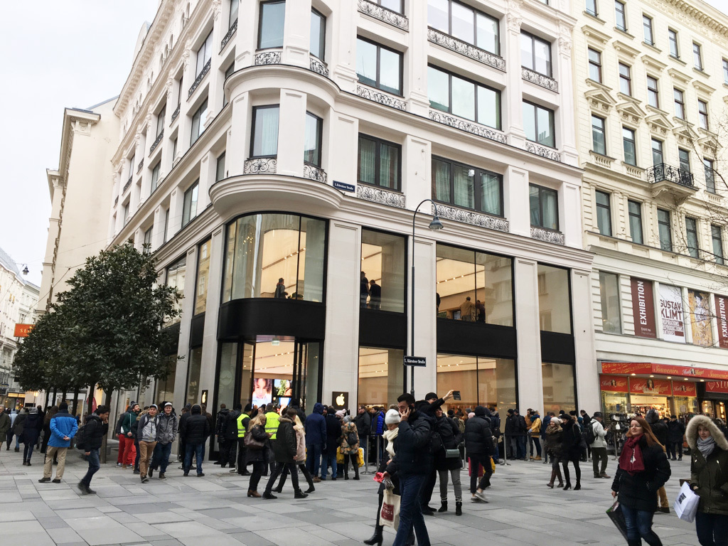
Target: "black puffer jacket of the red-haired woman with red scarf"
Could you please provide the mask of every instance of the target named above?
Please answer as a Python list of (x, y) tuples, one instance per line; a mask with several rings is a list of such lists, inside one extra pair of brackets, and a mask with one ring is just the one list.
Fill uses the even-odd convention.
[(662, 446), (647, 446), (642, 435), (639, 440), (644, 469), (630, 475), (622, 467), (617, 468), (612, 482), (612, 491), (617, 491), (620, 504), (635, 510), (654, 512), (657, 510), (657, 489), (670, 479), (670, 463)]

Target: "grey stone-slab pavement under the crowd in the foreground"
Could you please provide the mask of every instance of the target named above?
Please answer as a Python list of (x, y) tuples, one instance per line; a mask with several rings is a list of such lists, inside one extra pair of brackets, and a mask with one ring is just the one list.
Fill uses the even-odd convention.
[[(166, 481), (155, 476), (141, 484), (131, 470), (109, 463), (92, 481), (98, 495), (82, 496), (76, 483), (87, 465), (78, 452), (68, 454), (60, 484), (38, 483), (41, 454), (33, 454), (32, 467), (22, 463), (12, 449), (0, 451), (3, 544), (353, 546), (371, 536), (376, 513), (377, 484), (371, 475), (360, 481), (318, 483), (314, 494), (296, 501), (289, 479), (277, 500), (266, 501), (248, 499), (248, 478), (213, 464), (205, 463), (204, 478), (183, 478), (179, 464), (170, 464)], [(609, 461), (610, 475), (616, 464)], [(672, 465), (670, 503), (679, 489), (678, 479), (689, 477), (689, 459)], [(497, 467), (488, 505), (470, 502), (466, 493), (464, 515), (456, 517), (451, 491), (450, 511), (427, 517), (432, 545), (624, 545), (605, 514), (612, 504), (612, 480), (592, 478), (591, 463), (582, 463), (582, 469), (582, 490), (561, 491), (545, 485), (550, 465), (514, 462)], [(467, 470), (462, 481), (467, 489)], [(439, 506), (438, 491), (436, 486), (433, 506)], [(679, 521), (673, 513), (655, 515), (654, 529), (666, 546), (698, 544), (695, 525)], [(385, 533), (384, 545), (389, 546), (394, 535), (391, 529)]]

